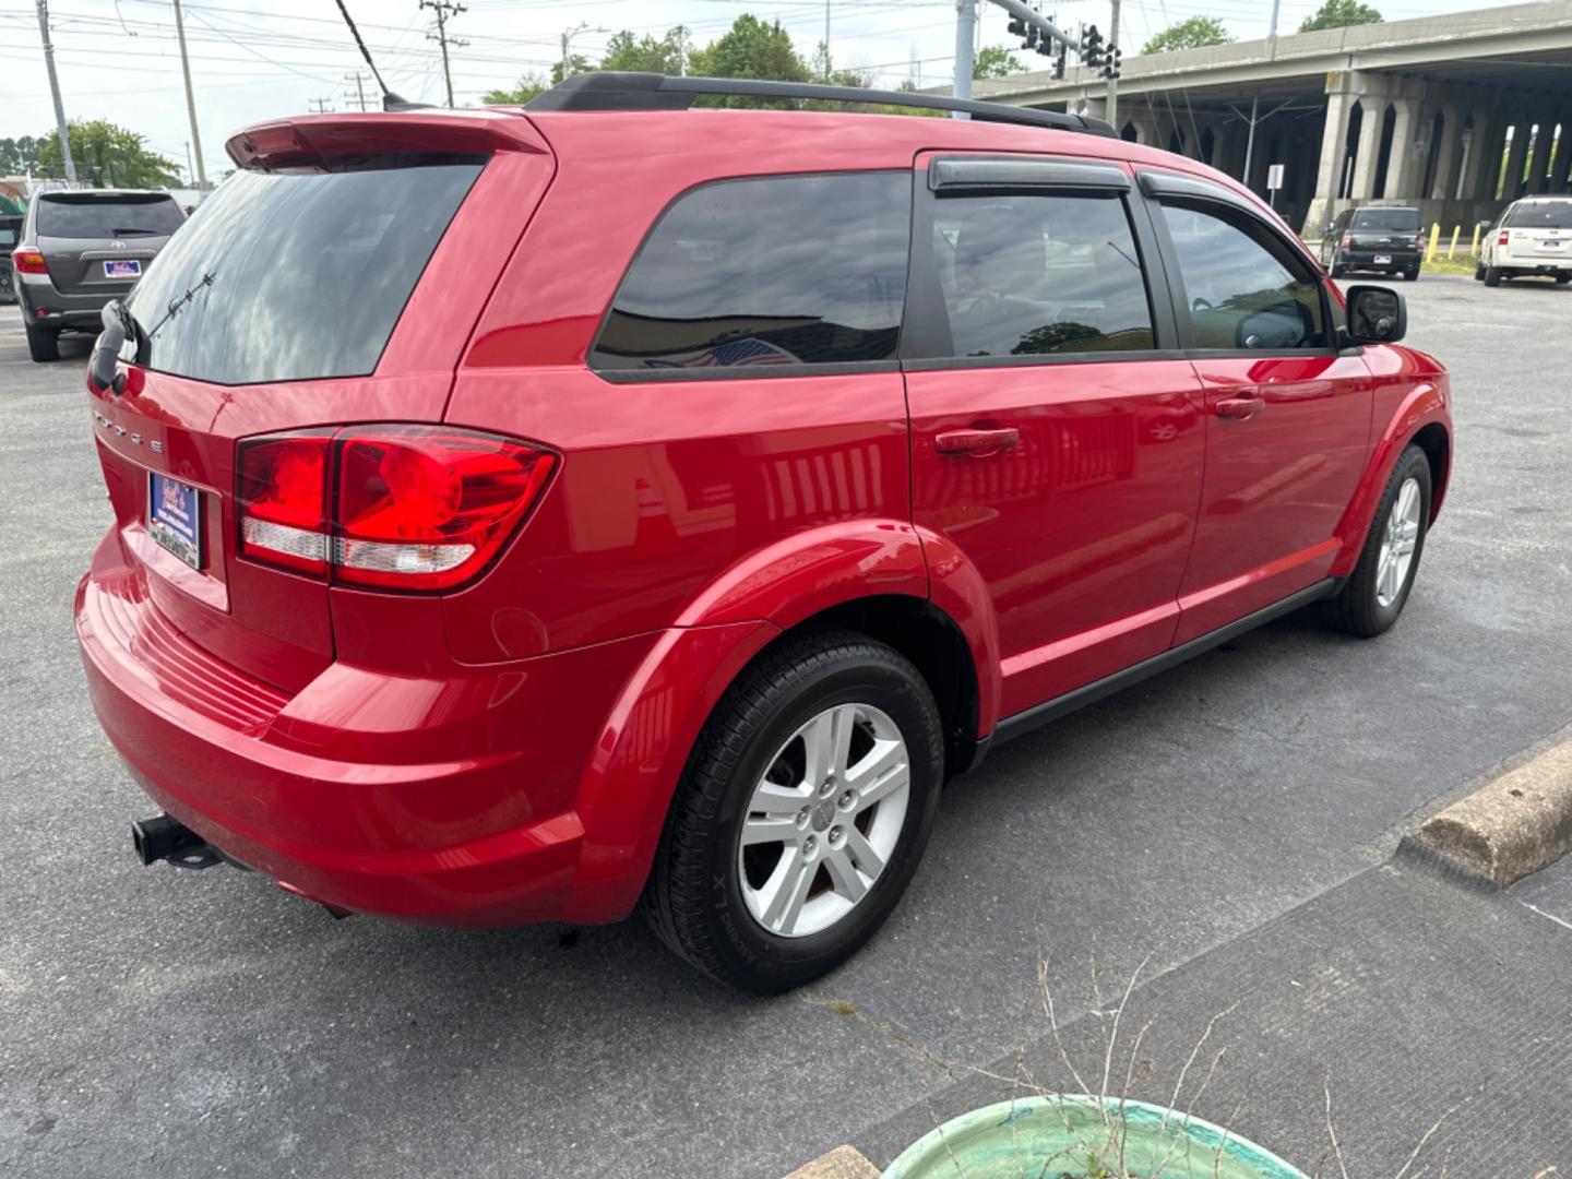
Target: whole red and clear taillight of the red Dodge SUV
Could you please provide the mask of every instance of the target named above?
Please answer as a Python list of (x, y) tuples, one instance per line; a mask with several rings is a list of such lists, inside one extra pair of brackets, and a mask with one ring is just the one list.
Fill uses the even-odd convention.
[(445, 426), (347, 426), (241, 443), (241, 553), (333, 582), (450, 590), (530, 512), (556, 456)]

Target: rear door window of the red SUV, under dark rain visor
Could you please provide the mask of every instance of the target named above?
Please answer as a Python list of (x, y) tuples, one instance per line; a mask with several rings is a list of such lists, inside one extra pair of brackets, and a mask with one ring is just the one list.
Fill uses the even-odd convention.
[(956, 357), (1154, 347), (1116, 193), (940, 195), (932, 248)]

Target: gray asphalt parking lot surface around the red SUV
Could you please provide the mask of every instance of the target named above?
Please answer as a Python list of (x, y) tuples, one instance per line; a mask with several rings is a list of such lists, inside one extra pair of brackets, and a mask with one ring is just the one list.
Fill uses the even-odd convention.
[(1236, 1005), (1196, 1111), (1306, 1173), (1327, 1069), (1350, 1176), (1396, 1174), (1465, 1099), (1437, 1137), (1453, 1174), (1572, 1173), (1566, 865), (1484, 896), (1393, 860), (1572, 722), (1572, 288), (1402, 291), (1409, 343), (1453, 369), (1457, 464), (1399, 626), (1292, 616), (1000, 748), (874, 943), (775, 1000), (634, 923), (333, 921), (255, 876), (137, 866), (151, 806), (71, 626), (110, 519), (88, 343), (33, 365), (0, 308), (0, 1171), (778, 1179), (838, 1143), (883, 1163), (971, 1069), (1052, 1055), (1045, 957), (1072, 1041), (1110, 1001), (1091, 964), (1118, 992), (1144, 962), (1159, 1086)]

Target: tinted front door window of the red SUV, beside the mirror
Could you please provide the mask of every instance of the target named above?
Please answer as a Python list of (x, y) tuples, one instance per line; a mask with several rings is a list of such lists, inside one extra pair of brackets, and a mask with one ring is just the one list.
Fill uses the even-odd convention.
[(1305, 261), (1248, 214), (1163, 201), (1195, 347), (1325, 347), (1320, 283)]

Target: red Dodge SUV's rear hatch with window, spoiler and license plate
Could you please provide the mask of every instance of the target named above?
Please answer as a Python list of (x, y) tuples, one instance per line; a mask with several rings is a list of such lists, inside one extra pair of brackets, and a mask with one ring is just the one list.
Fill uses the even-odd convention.
[(236, 137), (242, 170), (126, 299), (124, 391), (91, 393), (116, 542), (146, 596), (286, 692), (335, 657), (335, 591), (241, 555), (237, 453), (258, 435), (442, 420), (459, 351), (550, 176), (522, 118), (479, 123), (365, 115)]

